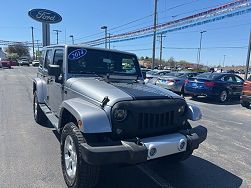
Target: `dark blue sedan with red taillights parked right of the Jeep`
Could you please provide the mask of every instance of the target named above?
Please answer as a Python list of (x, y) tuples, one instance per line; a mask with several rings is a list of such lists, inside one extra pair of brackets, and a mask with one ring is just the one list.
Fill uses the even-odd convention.
[(185, 93), (192, 97), (207, 96), (219, 102), (231, 96), (240, 96), (244, 80), (231, 73), (203, 73), (190, 78), (185, 84)]

